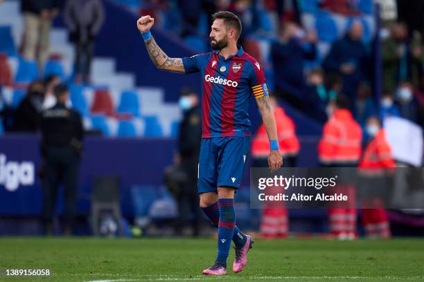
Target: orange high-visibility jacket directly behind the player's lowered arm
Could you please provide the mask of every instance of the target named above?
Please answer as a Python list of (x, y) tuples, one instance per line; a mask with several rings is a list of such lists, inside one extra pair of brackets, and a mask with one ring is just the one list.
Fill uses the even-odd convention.
[[(297, 153), (299, 153), (300, 144), (296, 137), (296, 126), (294, 122), (285, 114), (284, 109), (281, 107), (276, 107), (274, 109), (274, 118), (281, 154), (283, 156), (297, 155)], [(259, 127), (251, 143), (251, 154), (254, 157), (260, 158), (270, 154), (270, 140), (268, 140), (267, 131), (263, 124)]]

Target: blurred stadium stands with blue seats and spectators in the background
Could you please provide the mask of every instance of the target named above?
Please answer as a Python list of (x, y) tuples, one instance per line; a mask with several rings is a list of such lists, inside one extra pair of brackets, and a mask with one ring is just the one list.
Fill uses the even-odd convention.
[[(423, 1), (110, 1), (151, 15), (193, 53), (209, 50), (209, 15), (234, 12), (242, 20), (240, 44), (265, 68), (274, 96), (320, 126), (342, 94), (364, 142), (370, 118), (424, 126)], [(67, 32), (53, 30), (58, 17)], [(178, 137), (181, 100), (164, 102), (163, 89), (136, 86), (131, 73), (116, 73), (116, 62), (96, 58), (96, 37), (108, 20), (100, 0), (0, 1), (0, 134), (37, 132), (39, 113), (55, 104), (54, 86), (66, 82), (68, 104), (86, 131)]]

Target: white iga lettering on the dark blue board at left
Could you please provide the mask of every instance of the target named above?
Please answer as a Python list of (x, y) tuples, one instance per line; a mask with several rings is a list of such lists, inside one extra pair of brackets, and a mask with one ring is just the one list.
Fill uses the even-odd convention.
[(6, 190), (16, 191), (19, 185), (33, 185), (35, 166), (33, 162), (7, 162), (6, 155), (0, 153), (0, 185)]

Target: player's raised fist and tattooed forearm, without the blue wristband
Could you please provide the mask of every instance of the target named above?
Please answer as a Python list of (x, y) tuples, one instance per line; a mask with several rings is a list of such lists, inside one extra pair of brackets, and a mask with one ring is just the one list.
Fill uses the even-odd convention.
[[(140, 32), (147, 33), (150, 32), (152, 28), (154, 19), (150, 16), (141, 17), (137, 21), (137, 28)], [(145, 47), (148, 50), (148, 54), (154, 66), (159, 70), (173, 71), (175, 73), (184, 73), (184, 64), (181, 58), (170, 58), (165, 52), (157, 45), (153, 37), (144, 40)]]

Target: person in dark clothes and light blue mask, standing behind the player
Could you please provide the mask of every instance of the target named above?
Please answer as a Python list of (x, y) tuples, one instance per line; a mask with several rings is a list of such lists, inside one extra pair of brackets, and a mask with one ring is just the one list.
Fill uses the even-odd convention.
[[(202, 138), (202, 118), (199, 98), (195, 91), (183, 88), (179, 97), (183, 118), (179, 125), (178, 153), (181, 168), (186, 174), (186, 187), (176, 197), (179, 207), (179, 227), (191, 222), (193, 236), (199, 234), (200, 215), (197, 194), (197, 164), (199, 163), (200, 139)], [(190, 216), (191, 214), (191, 216)]]

